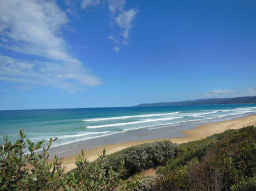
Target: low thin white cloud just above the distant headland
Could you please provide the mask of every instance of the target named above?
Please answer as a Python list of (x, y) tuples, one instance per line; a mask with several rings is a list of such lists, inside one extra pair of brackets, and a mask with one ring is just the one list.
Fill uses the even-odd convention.
[(205, 94), (198, 94), (196, 96), (190, 96), (190, 99), (232, 98), (232, 97), (243, 97), (243, 96), (256, 96), (256, 87), (243, 88), (243, 89), (212, 90)]

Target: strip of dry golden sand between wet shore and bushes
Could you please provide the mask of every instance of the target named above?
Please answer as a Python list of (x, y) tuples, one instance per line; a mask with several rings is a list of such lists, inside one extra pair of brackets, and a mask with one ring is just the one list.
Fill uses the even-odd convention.
[[(240, 129), (242, 127), (251, 126), (256, 124), (256, 115), (250, 115), (246, 117), (236, 118), (234, 120), (227, 120), (215, 123), (207, 123), (201, 126), (197, 126), (194, 129), (190, 130), (181, 130), (186, 136), (183, 138), (172, 138), (172, 139), (151, 139), (151, 140), (140, 140), (140, 141), (132, 141), (132, 142), (124, 142), (118, 144), (109, 144), (103, 145), (99, 147), (92, 148), (90, 150), (86, 150), (86, 156), (89, 162), (94, 161), (98, 158), (98, 154), (101, 154), (103, 149), (105, 148), (106, 154), (115, 153), (117, 151), (121, 151), (124, 148), (144, 144), (147, 142), (154, 142), (160, 140), (170, 140), (174, 143), (181, 144), (184, 142), (196, 141), (200, 139), (207, 138), (207, 136), (211, 136), (215, 133), (223, 133), (228, 129)], [(62, 159), (63, 165), (66, 166), (66, 171), (72, 170), (76, 168), (75, 165), (76, 156), (65, 157)]]

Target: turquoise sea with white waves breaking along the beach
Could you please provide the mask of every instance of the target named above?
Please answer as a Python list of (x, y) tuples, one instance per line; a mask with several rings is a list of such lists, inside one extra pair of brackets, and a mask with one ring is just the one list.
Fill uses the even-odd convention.
[(136, 130), (156, 132), (255, 113), (255, 104), (0, 111), (0, 143), (2, 135), (8, 135), (12, 141), (18, 139), (19, 129), (25, 129), (27, 138), (35, 142), (56, 136), (58, 140), (53, 146), (58, 147), (113, 134), (128, 136)]

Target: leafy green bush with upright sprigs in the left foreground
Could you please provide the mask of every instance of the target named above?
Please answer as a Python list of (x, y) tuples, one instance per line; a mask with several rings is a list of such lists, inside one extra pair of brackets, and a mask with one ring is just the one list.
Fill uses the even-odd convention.
[(101, 154), (98, 163), (88, 165), (87, 159), (82, 155), (77, 156), (75, 164), (78, 166), (77, 174), (69, 172), (64, 174), (61, 160), (54, 156), (54, 160), (48, 163), (49, 145), (43, 147), (42, 154), (35, 154), (41, 148), (44, 141), (36, 145), (27, 139), (30, 154), (24, 154), (27, 147), (24, 139), (24, 130), (20, 130), (20, 140), (14, 144), (4, 138), (4, 145), (0, 145), (0, 190), (132, 190), (136, 187), (134, 181), (123, 183), (120, 179), (124, 175), (124, 161), (118, 171), (110, 168), (106, 172), (105, 150)]

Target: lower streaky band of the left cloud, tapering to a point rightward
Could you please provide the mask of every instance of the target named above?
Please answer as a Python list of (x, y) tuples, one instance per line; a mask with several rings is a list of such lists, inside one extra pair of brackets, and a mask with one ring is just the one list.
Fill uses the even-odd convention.
[(27, 85), (53, 86), (77, 92), (84, 86), (95, 86), (99, 79), (88, 74), (89, 71), (79, 65), (59, 62), (24, 62), (0, 55), (0, 80)]

